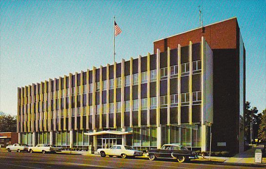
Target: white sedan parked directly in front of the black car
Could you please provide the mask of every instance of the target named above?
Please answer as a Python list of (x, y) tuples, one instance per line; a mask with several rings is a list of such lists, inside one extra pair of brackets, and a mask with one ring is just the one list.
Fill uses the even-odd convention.
[(106, 155), (112, 156), (121, 156), (122, 158), (126, 158), (127, 156), (142, 156), (143, 152), (138, 150), (133, 150), (129, 146), (124, 145), (114, 145), (110, 149), (98, 149), (98, 153), (101, 154), (102, 157)]

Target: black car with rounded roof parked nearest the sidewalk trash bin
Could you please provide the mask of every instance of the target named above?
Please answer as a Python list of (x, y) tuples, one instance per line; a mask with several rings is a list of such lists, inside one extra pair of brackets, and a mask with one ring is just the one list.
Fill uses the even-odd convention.
[(156, 160), (157, 158), (172, 158), (177, 159), (180, 163), (188, 161), (189, 159), (199, 158), (196, 152), (189, 151), (180, 144), (164, 144), (161, 149), (149, 150), (147, 156), (150, 160)]

